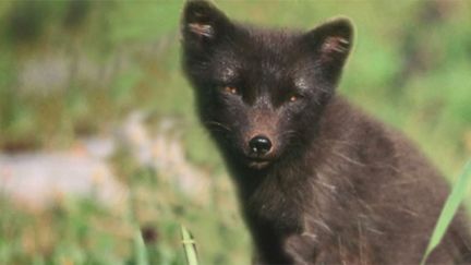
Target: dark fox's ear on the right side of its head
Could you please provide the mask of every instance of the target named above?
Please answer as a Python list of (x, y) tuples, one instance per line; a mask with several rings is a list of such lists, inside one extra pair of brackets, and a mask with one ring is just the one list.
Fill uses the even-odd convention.
[(314, 48), (321, 65), (340, 70), (353, 41), (353, 26), (349, 19), (335, 19), (309, 32), (305, 36)]

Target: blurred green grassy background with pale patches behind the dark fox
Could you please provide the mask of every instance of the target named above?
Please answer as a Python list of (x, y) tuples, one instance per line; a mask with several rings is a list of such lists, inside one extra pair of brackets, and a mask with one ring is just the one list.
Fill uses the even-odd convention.
[[(470, 1), (216, 3), (267, 26), (351, 17), (339, 93), (402, 130), (450, 181), (460, 171), (471, 153)], [(202, 264), (249, 263), (231, 183), (180, 71), (182, 5), (0, 1), (0, 264), (184, 264), (180, 224)]]

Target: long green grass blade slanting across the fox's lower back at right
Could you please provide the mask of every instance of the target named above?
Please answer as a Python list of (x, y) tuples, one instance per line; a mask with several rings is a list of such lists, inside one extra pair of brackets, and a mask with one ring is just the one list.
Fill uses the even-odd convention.
[(438, 245), (444, 237), (449, 224), (451, 222), (458, 207), (466, 195), (467, 189), (469, 186), (471, 180), (471, 161), (464, 167), (463, 172), (458, 178), (457, 182), (454, 185), (454, 189), (448, 196), (444, 208), (442, 209), (442, 214), (438, 217), (438, 221), (435, 225), (434, 232), (426, 248), (425, 254), (422, 257), (421, 265), (425, 264), (428, 255)]

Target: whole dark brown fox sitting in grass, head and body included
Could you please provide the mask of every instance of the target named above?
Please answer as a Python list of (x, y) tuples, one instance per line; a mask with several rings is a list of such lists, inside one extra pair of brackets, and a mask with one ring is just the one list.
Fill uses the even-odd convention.
[[(238, 188), (256, 264), (419, 264), (449, 192), (400, 133), (335, 94), (349, 20), (312, 31), (186, 3), (183, 69)], [(430, 264), (469, 263), (458, 214)]]

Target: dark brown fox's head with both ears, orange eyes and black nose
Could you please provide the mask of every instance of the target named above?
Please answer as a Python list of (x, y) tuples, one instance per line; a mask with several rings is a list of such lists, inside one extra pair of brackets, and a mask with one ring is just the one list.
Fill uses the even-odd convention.
[(259, 170), (315, 137), (352, 47), (349, 20), (259, 29), (189, 1), (181, 28), (200, 118), (226, 155)]

